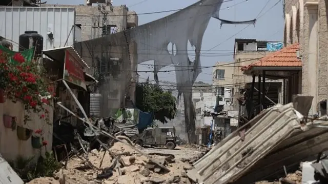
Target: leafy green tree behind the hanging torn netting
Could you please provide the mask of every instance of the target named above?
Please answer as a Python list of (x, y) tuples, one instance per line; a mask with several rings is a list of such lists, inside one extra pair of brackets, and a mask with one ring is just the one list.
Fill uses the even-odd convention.
[(176, 116), (176, 98), (171, 91), (148, 83), (136, 85), (136, 107), (144, 112), (153, 112), (154, 119), (167, 123)]

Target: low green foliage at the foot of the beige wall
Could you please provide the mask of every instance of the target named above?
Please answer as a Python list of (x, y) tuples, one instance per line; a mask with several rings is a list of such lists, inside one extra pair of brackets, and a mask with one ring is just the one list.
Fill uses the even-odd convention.
[(34, 157), (18, 156), (16, 160), (9, 161), (9, 165), (25, 182), (38, 177), (53, 177), (54, 172), (61, 168), (61, 164), (54, 158), (53, 152), (46, 152), (46, 157), (40, 156), (37, 162), (34, 161)]

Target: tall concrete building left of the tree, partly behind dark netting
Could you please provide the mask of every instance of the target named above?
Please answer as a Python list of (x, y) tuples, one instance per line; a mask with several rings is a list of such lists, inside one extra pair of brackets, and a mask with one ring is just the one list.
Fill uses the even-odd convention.
[[(87, 5), (48, 5), (46, 7), (69, 7), (75, 8), (75, 22), (81, 28), (81, 41), (95, 39), (103, 36), (103, 18), (105, 12), (107, 18), (107, 25), (111, 27), (111, 34), (121, 32), (138, 26), (138, 16), (134, 11), (129, 11), (126, 6), (87, 6)], [(106, 42), (106, 38), (101, 42)], [(135, 103), (135, 84), (137, 79), (137, 45), (129, 44), (129, 53), (127, 49), (121, 45), (113, 45), (110, 48), (103, 48), (104, 44), (97, 43), (94, 48), (91, 48), (94, 58), (84, 57), (86, 63), (90, 66), (88, 73), (97, 78), (99, 70), (106, 70), (105, 73), (116, 73), (115, 76), (109, 74), (106, 76), (103, 83), (99, 85), (94, 93), (101, 93), (104, 96), (109, 96), (108, 101), (103, 101), (104, 113), (116, 112), (115, 109), (122, 106), (133, 107)], [(108, 44), (107, 44), (108, 45)], [(105, 50), (110, 50), (109, 58), (103, 58)], [(82, 55), (83, 57), (83, 55)], [(119, 59), (117, 62), (115, 59)], [(115, 65), (115, 71), (107, 71), (108, 65)], [(114, 64), (115, 63), (115, 64)], [(120, 64), (118, 64), (120, 63)], [(117, 66), (119, 68), (117, 68)], [(103, 68), (103, 69), (99, 69)], [(113, 67), (114, 68), (114, 67)], [(98, 73), (99, 72), (99, 73)], [(98, 78), (97, 78), (98, 79)], [(104, 98), (105, 99), (105, 98)], [(113, 110), (114, 109), (114, 110)], [(113, 111), (112, 111), (113, 110)]]

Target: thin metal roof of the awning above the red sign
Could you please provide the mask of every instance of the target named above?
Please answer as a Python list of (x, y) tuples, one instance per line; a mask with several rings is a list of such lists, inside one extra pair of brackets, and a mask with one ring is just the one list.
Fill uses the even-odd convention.
[(83, 63), (87, 68), (90, 68), (72, 46), (48, 49), (48, 50), (43, 50), (42, 52), (52, 60), (61, 62), (65, 60), (66, 50), (70, 53), (70, 55), (72, 55), (75, 58), (78, 58), (81, 61), (81, 63)]

